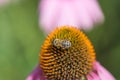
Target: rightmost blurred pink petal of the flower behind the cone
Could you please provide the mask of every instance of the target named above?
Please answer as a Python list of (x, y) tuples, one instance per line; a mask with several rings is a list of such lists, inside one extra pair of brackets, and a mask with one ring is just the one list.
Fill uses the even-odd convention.
[(102, 23), (104, 16), (96, 0), (76, 0), (73, 3), (74, 11), (80, 28), (91, 29), (94, 24)]

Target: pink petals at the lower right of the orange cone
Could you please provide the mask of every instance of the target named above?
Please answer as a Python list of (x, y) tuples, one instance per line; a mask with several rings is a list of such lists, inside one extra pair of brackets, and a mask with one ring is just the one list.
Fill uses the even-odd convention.
[(99, 62), (94, 63), (94, 70), (87, 76), (88, 80), (115, 80), (110, 72), (108, 72)]

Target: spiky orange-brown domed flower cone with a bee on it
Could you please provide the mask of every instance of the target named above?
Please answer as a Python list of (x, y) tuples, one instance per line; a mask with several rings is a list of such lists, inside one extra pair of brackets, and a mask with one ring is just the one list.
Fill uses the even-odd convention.
[(40, 52), (40, 67), (48, 80), (83, 80), (94, 61), (95, 52), (88, 38), (69, 26), (50, 33)]

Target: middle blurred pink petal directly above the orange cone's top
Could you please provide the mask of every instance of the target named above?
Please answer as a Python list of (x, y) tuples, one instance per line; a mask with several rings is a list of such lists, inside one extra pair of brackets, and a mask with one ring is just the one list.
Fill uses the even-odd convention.
[(61, 8), (59, 12), (58, 23), (56, 26), (70, 25), (70, 26), (78, 26), (76, 16), (73, 8), (74, 1), (61, 1)]

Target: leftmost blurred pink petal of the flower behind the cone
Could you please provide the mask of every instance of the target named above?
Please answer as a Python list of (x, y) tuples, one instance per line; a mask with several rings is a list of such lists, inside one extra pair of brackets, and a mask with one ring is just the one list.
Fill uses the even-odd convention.
[(40, 3), (40, 25), (46, 32), (51, 32), (52, 26), (56, 23), (59, 12), (59, 1), (42, 0)]

